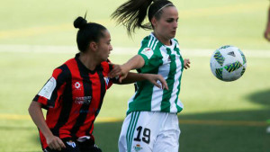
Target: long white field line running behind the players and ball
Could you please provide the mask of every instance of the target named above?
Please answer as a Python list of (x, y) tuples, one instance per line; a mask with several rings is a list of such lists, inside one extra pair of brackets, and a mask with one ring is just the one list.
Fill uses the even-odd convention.
[[(184, 58), (211, 57), (215, 49), (181, 49)], [(138, 48), (113, 48), (111, 55), (136, 55)], [(245, 49), (247, 58), (270, 58), (270, 50)], [(75, 54), (76, 46), (0, 45), (0, 52)]]

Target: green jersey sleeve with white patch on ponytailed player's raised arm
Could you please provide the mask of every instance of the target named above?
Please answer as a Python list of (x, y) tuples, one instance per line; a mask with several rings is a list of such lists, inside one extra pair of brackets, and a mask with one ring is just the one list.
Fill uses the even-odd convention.
[(148, 47), (148, 43), (149, 40), (142, 40), (141, 42), (138, 55), (144, 59), (145, 63), (143, 67), (137, 69), (139, 73), (152, 73), (162, 64), (161, 56), (158, 56), (155, 50)]

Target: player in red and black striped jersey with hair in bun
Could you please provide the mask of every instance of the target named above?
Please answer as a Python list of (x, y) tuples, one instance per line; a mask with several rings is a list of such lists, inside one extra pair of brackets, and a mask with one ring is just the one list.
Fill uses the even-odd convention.
[[(109, 54), (112, 50), (111, 36), (103, 25), (87, 23), (78, 17), (74, 26), (80, 50), (75, 58), (57, 67), (49, 81), (34, 97), (29, 107), (31, 119), (40, 130), (44, 152), (100, 152), (94, 145), (94, 120), (98, 115), (106, 90), (116, 78), (109, 78), (112, 70)], [(114, 70), (120, 69), (114, 65)], [(162, 76), (129, 73), (122, 84), (157, 80), (167, 88)], [(41, 108), (48, 110), (46, 121)]]

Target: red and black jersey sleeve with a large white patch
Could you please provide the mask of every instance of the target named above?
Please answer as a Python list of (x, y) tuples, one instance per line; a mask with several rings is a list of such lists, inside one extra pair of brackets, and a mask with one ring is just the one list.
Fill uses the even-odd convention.
[(59, 97), (63, 94), (66, 86), (67, 76), (62, 68), (56, 68), (47, 83), (43, 85), (40, 92), (36, 94), (33, 101), (42, 104), (42, 108), (55, 107)]

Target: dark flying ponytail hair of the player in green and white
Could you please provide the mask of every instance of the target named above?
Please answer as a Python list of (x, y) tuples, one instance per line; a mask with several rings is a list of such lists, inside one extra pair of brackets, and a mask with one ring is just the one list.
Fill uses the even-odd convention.
[[(152, 4), (152, 2), (154, 3)], [(129, 35), (131, 35), (131, 32), (134, 32), (136, 28), (151, 30), (153, 29), (153, 25), (150, 23), (151, 19), (153, 17), (156, 17), (157, 20), (160, 19), (163, 13), (162, 8), (166, 5), (174, 6), (174, 4), (168, 0), (129, 0), (121, 4), (112, 13), (112, 19), (116, 19), (118, 23), (125, 26)], [(147, 11), (149, 22), (142, 24), (147, 15)]]

